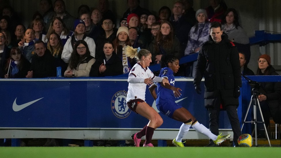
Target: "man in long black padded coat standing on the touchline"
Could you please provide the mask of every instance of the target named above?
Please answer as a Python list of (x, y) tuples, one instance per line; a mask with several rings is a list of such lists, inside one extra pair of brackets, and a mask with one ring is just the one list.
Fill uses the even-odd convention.
[[(233, 130), (233, 142), (238, 146), (241, 135), (237, 115), (240, 96), (241, 71), (239, 54), (235, 45), (223, 33), (221, 24), (212, 22), (209, 40), (201, 45), (195, 66), (193, 84), (195, 91), (201, 94), (200, 82), (205, 77), (205, 107), (209, 111), (210, 131), (219, 134), (219, 112), (221, 105), (227, 111)], [(213, 146), (210, 141), (209, 146)]]

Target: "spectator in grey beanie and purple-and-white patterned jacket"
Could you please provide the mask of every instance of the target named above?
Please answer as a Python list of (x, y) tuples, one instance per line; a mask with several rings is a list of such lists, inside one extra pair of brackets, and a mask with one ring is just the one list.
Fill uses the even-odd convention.
[[(192, 53), (199, 53), (200, 46), (208, 41), (209, 38), (209, 26), (207, 12), (205, 9), (198, 9), (196, 14), (197, 23), (190, 29), (188, 35), (188, 42), (185, 48), (185, 56)], [(195, 71), (195, 62), (185, 64), (185, 76), (193, 77)]]

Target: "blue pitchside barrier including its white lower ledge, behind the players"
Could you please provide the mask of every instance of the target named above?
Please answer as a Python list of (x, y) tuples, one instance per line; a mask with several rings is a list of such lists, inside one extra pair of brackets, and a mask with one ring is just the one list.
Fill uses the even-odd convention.
[[(279, 76), (249, 78), (280, 81)], [(176, 87), (183, 90), (178, 104), (208, 127), (204, 93), (196, 94), (192, 78), (175, 80)], [(240, 121), (250, 101), (250, 86), (245, 79), (242, 81)], [(125, 104), (127, 78), (0, 79), (0, 87), (0, 138), (12, 138), (15, 142), (17, 138), (63, 138), (83, 139), (91, 145), (92, 140), (129, 140), (132, 133), (148, 123)], [(204, 90), (204, 83), (201, 88)], [(146, 102), (159, 112), (148, 88)], [(153, 139), (174, 139), (182, 123), (160, 115), (164, 123), (155, 130)], [(249, 133), (250, 125), (245, 127), (243, 132)], [(233, 134), (225, 111), (221, 111), (219, 128), (223, 134)], [(191, 129), (184, 139), (208, 138)]]

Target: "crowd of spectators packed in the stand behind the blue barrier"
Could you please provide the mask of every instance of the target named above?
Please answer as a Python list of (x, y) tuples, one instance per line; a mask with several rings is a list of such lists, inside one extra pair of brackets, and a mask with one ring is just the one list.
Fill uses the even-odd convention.
[[(90, 56), (94, 57), (94, 62), (88, 66), (80, 66), (82, 58), (73, 65), (71, 75), (67, 77), (89, 77), (91, 65), (97, 59), (105, 58), (106, 51), (104, 44), (107, 41), (113, 42), (113, 57), (105, 59), (103, 63), (95, 64), (92, 69), (109, 68), (111, 60), (117, 62), (117, 67), (123, 66), (123, 73), (128, 73), (136, 60), (124, 57), (124, 48), (130, 45), (134, 48), (145, 48), (152, 53), (152, 65), (159, 64), (163, 54), (174, 54), (177, 58), (198, 53), (200, 45), (208, 40), (208, 27), (210, 22), (222, 22), (223, 30), (228, 33), (229, 39), (238, 45), (239, 52), (245, 54), (247, 63), (250, 57), (249, 40), (246, 33), (238, 22), (238, 14), (235, 9), (227, 9), (227, 5), (222, 0), (210, 1), (210, 6), (206, 9), (194, 11), (193, 0), (177, 1), (173, 7), (161, 6), (158, 15), (154, 15), (148, 9), (140, 7), (140, 0), (128, 0), (128, 9), (123, 17), (117, 20), (115, 14), (109, 10), (108, 0), (99, 0), (98, 5), (80, 5), (78, 7), (78, 17), (71, 16), (67, 11), (67, 6), (63, 0), (41, 0), (39, 9), (33, 15), (33, 20), (29, 26), (22, 23), (24, 17), (19, 17), (11, 6), (4, 6), (1, 9), (1, 78), (34, 78), (36, 77), (56, 77), (56, 69), (48, 74), (37, 76), (28, 75), (32, 69), (32, 58), (39, 55), (39, 50), (35, 48), (36, 41), (43, 41), (47, 54), (52, 54), (54, 67), (61, 67), (61, 75), (68, 71), (70, 59), (74, 51), (75, 43), (79, 40), (86, 41), (90, 51)], [(171, 4), (172, 5), (172, 4)], [(229, 15), (231, 14), (231, 15)], [(119, 22), (117, 24), (117, 22)], [(18, 47), (20, 54), (17, 59), (12, 57), (12, 50)], [(119, 62), (115, 58), (119, 57)], [(84, 55), (82, 55), (84, 56)], [(44, 58), (45, 55), (42, 55)], [(28, 60), (31, 64), (23, 63), (20, 58)], [(49, 61), (51, 62), (50, 59)], [(108, 63), (109, 66), (106, 66)], [(122, 63), (122, 66), (120, 65)], [(49, 64), (46, 62), (46, 64)], [(176, 76), (192, 77), (196, 62), (181, 65)], [(31, 67), (29, 67), (31, 66)], [(49, 66), (38, 68), (39, 71)], [(77, 70), (85, 71), (83, 75), (77, 75)], [(111, 68), (109, 68), (111, 69)], [(53, 71), (53, 72), (52, 72)], [(97, 70), (92, 70), (97, 71)], [(114, 73), (109, 70), (99, 71), (94, 76), (113, 76), (122, 74), (121, 71)], [(113, 73), (108, 73), (113, 72)], [(20, 73), (21, 75), (17, 75)], [(25, 75), (24, 75), (25, 74)], [(93, 75), (92, 75), (93, 76)]]

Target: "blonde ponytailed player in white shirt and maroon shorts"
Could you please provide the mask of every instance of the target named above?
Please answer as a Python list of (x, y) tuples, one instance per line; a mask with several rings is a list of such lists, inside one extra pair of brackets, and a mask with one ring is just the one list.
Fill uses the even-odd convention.
[(161, 116), (145, 102), (145, 91), (147, 85), (152, 85), (154, 82), (162, 82), (164, 85), (169, 84), (164, 77), (155, 76), (148, 66), (151, 63), (151, 53), (145, 49), (134, 49), (131, 46), (125, 48), (126, 56), (136, 58), (138, 62), (133, 66), (128, 77), (128, 94), (126, 103), (128, 107), (135, 113), (149, 119), (149, 122), (143, 127), (140, 132), (133, 134), (132, 138), (136, 147), (140, 146), (140, 138), (145, 137), (143, 146), (153, 147), (151, 139), (154, 130), (163, 123)]

